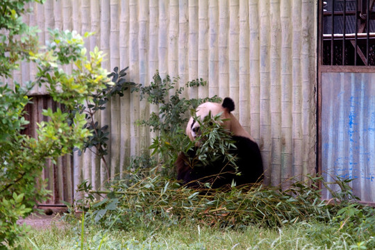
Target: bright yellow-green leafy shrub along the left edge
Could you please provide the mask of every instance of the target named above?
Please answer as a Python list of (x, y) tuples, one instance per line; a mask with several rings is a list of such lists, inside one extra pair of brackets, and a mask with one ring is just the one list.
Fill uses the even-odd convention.
[[(28, 123), (24, 119), (24, 106), (30, 100), (28, 91), (33, 85), (44, 85), (54, 101), (72, 110), (92, 92), (106, 88), (106, 70), (100, 66), (103, 54), (99, 49), (86, 56), (83, 38), (74, 32), (50, 31), (51, 42), (38, 51), (38, 38), (22, 23), (24, 3), (28, 1), (1, 1), (0, 27), (7, 31), (1, 35), (7, 42), (0, 45), (0, 60), (9, 67), (1, 67), (0, 76), (9, 76), (10, 69), (17, 69), (17, 60), (26, 58), (37, 65), (35, 81), (14, 89), (0, 83), (0, 249), (11, 247), (22, 236), (23, 228), (16, 224), (19, 217), (31, 213), (37, 202), (47, 197), (45, 183), (36, 182), (47, 158), (70, 153), (73, 147), (81, 148), (90, 135), (85, 116), (79, 113), (63, 113), (43, 110), (48, 122), (38, 124), (38, 140), (24, 135)], [(40, 2), (40, 1), (37, 1)], [(3, 33), (2, 33), (3, 34)], [(34, 35), (34, 37), (33, 37)], [(90, 35), (90, 34), (86, 34)], [(17, 56), (18, 55), (18, 56)], [(65, 65), (74, 65), (72, 73), (64, 71)], [(4, 65), (1, 63), (1, 65)]]

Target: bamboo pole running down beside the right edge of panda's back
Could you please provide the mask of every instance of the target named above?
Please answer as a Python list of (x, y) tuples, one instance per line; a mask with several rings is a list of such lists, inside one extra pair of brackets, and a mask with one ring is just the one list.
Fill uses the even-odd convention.
[(272, 133), (271, 133), (271, 115), (270, 115), (270, 77), (269, 77), (269, 0), (259, 3), (260, 24), (259, 43), (260, 43), (260, 135), (263, 141), (260, 142), (260, 150), (263, 155), (263, 164), (265, 168), (265, 184), (270, 183), (270, 177), (273, 167), (272, 164)]

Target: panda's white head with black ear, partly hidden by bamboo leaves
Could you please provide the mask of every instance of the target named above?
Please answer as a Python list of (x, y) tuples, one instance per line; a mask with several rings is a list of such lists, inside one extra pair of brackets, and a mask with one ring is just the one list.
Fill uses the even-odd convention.
[[(222, 104), (213, 102), (202, 103), (196, 109), (195, 117), (196, 119), (199, 119), (200, 122), (202, 122), (203, 119), (209, 114), (211, 115), (211, 117), (220, 115), (220, 118), (222, 119), (222, 126), (226, 130), (233, 133), (233, 135), (239, 135), (253, 140), (250, 137), (249, 133), (247, 133), (247, 131), (242, 128), (242, 126), (238, 122), (238, 119), (236, 119), (231, 113), (234, 109), (235, 104), (233, 100), (229, 97), (226, 97)], [(197, 135), (199, 135), (201, 126), (200, 122), (195, 120), (194, 117), (190, 117), (188, 126), (186, 127), (186, 134), (189, 136), (190, 140), (195, 140), (195, 138), (197, 138)]]

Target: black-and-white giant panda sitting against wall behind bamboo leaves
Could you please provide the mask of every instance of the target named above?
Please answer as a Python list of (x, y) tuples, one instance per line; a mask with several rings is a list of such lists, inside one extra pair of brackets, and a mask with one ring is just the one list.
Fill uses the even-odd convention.
[[(191, 158), (195, 157), (197, 149), (192, 149), (188, 153), (180, 153), (176, 160), (177, 179), (182, 181), (184, 185), (190, 188), (203, 188), (209, 183), (210, 188), (222, 188), (230, 186), (233, 182), (239, 185), (256, 183), (263, 179), (263, 161), (260, 155), (258, 144), (244, 130), (238, 119), (231, 113), (235, 109), (233, 100), (226, 97), (222, 104), (206, 102), (197, 107), (196, 119), (203, 121), (204, 117), (211, 115), (212, 117), (219, 115), (222, 119), (222, 126), (231, 133), (235, 142), (236, 149), (231, 149), (233, 154), (238, 158), (236, 165), (238, 171), (228, 162), (223, 160), (215, 160), (209, 165), (199, 164), (194, 161), (192, 166)], [(199, 133), (200, 123), (190, 117), (186, 134), (190, 140), (194, 141)], [(199, 147), (199, 146), (197, 146)], [(238, 174), (240, 172), (240, 174)], [(223, 174), (225, 173), (225, 174)], [(237, 173), (237, 174), (236, 174)]]

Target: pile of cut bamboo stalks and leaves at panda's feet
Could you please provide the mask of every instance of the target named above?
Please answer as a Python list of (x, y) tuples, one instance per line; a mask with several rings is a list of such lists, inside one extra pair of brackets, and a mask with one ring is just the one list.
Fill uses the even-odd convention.
[[(322, 201), (321, 190), (315, 185), (322, 180), (311, 176), (308, 181), (295, 181), (286, 190), (260, 184), (228, 190), (191, 190), (158, 175), (135, 181), (137, 178), (113, 181), (111, 191), (86, 187), (88, 197), (92, 197), (92, 201), (86, 203), (89, 204), (85, 208), (86, 216), (94, 223), (104, 224), (117, 219), (121, 225), (156, 220), (177, 224), (190, 220), (208, 226), (260, 224), (274, 227), (308, 219), (328, 222), (344, 204), (351, 203), (349, 200), (335, 204)], [(94, 194), (102, 195), (103, 199), (95, 200)], [(343, 197), (335, 194), (339, 196)]]

